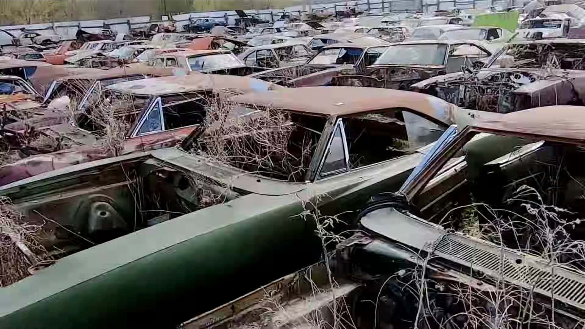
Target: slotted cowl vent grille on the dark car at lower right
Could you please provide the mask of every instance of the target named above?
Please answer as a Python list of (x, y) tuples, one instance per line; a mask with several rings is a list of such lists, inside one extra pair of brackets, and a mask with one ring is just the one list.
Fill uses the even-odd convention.
[(535, 292), (585, 309), (584, 273), (563, 266), (549, 266), (543, 259), (456, 234), (443, 237), (436, 245), (435, 253), (525, 289), (534, 287)]

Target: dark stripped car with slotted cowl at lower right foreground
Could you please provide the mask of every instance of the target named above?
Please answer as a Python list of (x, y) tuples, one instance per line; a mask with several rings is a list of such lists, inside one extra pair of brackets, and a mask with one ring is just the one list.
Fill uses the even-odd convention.
[[(500, 311), (506, 321), (543, 324), (536, 328), (579, 325), (585, 272), (573, 252), (583, 243), (584, 123), (584, 107), (554, 106), (452, 126), (397, 193), (371, 196), (329, 267), (281, 277), (183, 327), (464, 327)], [(471, 208), (497, 237), (458, 229)]]

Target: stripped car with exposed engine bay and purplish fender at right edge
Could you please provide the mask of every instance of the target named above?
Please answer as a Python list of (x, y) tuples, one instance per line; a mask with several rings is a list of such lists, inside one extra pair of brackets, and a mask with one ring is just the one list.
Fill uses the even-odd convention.
[(583, 44), (578, 39), (510, 43), (485, 60), (486, 68), (429, 78), (410, 90), (491, 112), (583, 105)]

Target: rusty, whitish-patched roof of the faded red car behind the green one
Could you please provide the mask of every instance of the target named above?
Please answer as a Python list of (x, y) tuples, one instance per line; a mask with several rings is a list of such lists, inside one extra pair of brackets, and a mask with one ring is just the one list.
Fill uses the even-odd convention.
[(223, 74), (190, 73), (184, 77), (160, 77), (126, 81), (106, 87), (109, 90), (135, 95), (167, 95), (202, 90), (238, 90), (252, 92), (259, 90), (285, 89), (280, 85), (267, 83), (256, 78), (228, 76)]

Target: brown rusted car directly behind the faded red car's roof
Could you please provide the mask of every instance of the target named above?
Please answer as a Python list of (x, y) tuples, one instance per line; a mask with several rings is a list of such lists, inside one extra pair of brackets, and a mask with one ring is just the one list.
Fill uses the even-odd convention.
[[(101, 94), (102, 89), (110, 84), (150, 77), (173, 75), (171, 68), (152, 68), (146, 66), (118, 67), (110, 70), (95, 70), (91, 73), (74, 74), (56, 78), (51, 81), (44, 94), (44, 102), (67, 95), (77, 99), (78, 104), (87, 100), (91, 91)], [(91, 90), (91, 91), (90, 91)]]

